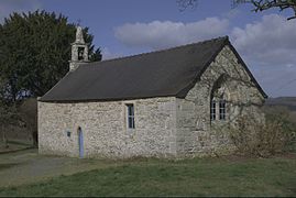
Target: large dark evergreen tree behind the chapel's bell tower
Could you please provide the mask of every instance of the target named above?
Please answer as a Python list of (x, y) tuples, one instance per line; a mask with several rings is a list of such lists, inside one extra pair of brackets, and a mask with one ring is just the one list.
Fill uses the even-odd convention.
[[(0, 87), (2, 97), (17, 101), (43, 96), (68, 72), (76, 26), (54, 12), (12, 13), (0, 24)], [(94, 36), (84, 29), (91, 61), (100, 61)]]

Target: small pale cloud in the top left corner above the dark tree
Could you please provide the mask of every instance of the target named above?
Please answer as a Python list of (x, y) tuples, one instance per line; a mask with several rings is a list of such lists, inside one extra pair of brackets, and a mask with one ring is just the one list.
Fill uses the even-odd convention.
[(0, 0), (0, 22), (12, 12), (28, 12), (41, 9), (37, 0)]

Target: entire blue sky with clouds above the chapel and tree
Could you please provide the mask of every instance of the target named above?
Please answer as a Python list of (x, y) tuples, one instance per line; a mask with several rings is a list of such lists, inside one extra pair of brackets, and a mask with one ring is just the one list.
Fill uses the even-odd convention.
[(88, 26), (103, 59), (228, 35), (268, 97), (296, 96), (296, 20), (289, 10), (252, 12), (232, 0), (0, 0), (0, 22), (12, 12), (45, 10)]

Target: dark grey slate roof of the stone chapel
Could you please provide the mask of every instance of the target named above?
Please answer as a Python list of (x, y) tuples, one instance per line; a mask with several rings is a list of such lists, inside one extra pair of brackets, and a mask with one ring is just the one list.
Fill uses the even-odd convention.
[(40, 101), (107, 101), (175, 96), (185, 98), (224, 45), (229, 45), (266, 95), (228, 36), (164, 51), (95, 62), (69, 72)]

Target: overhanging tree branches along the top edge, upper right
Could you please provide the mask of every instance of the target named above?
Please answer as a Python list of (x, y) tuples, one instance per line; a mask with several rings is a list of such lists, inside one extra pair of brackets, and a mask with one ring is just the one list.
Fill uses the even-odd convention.
[[(177, 0), (180, 10), (187, 8), (195, 8), (198, 0)], [(232, 0), (232, 6), (237, 7), (242, 3), (252, 3), (254, 9), (252, 11), (264, 11), (272, 8), (278, 8), (281, 11), (286, 9), (292, 9), (294, 12), (293, 16), (287, 18), (287, 20), (296, 19), (296, 0)]]

